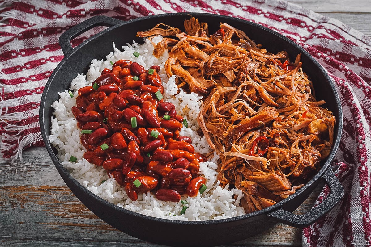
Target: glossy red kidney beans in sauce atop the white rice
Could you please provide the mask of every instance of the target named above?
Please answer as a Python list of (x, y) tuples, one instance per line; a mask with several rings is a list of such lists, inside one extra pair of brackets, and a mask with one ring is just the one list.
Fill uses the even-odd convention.
[(78, 127), (91, 132), (80, 138), (88, 150), (84, 158), (103, 166), (131, 200), (153, 191), (159, 200), (176, 202), (181, 195), (197, 195), (205, 183), (197, 173), (207, 158), (194, 153), (189, 137), (179, 136), (183, 117), (158, 99), (164, 92), (160, 67), (150, 69), (152, 74), (130, 60), (116, 61), (92, 86), (78, 90), (72, 113)]

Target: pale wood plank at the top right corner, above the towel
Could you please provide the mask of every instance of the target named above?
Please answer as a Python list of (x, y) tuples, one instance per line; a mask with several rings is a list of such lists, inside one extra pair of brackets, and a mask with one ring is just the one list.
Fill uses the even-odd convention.
[(289, 0), (315, 12), (371, 13), (370, 0)]

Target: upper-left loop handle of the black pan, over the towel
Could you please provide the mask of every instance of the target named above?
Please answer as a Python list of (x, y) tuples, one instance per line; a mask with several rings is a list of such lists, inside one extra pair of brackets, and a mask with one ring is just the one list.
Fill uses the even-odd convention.
[(62, 33), (59, 36), (60, 48), (62, 48), (63, 54), (66, 56), (73, 50), (71, 46), (71, 40), (73, 38), (92, 29), (93, 27), (98, 26), (112, 27), (118, 24), (122, 24), (123, 22), (124, 21), (117, 20), (108, 16), (93, 16)]

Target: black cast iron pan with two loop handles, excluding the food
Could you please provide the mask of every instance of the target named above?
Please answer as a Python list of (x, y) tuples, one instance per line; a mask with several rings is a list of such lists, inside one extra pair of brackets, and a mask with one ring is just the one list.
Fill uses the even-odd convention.
[[(132, 40), (143, 43), (143, 39), (135, 37), (137, 31), (151, 29), (158, 23), (165, 23), (183, 30), (183, 21), (190, 16), (207, 22), (210, 33), (219, 29), (220, 22), (226, 22), (243, 30), (252, 40), (262, 44), (269, 52), (287, 51), (290, 60), (295, 60), (296, 55), (302, 53), (303, 71), (313, 81), (317, 99), (325, 100), (325, 107), (331, 110), (336, 117), (334, 145), (329, 157), (322, 163), (321, 170), (295, 194), (271, 207), (243, 216), (209, 221), (165, 220), (134, 213), (103, 200), (79, 184), (60, 164), (55, 155), (56, 150), (49, 143), (50, 118), (53, 111), (51, 105), (53, 101), (59, 99), (58, 92), (68, 89), (70, 82), (78, 73), (86, 73), (91, 60), (105, 59), (106, 55), (112, 51), (112, 41), (115, 42), (116, 47), (132, 43)], [(109, 28), (72, 49), (71, 39), (96, 26)], [(118, 230), (142, 240), (171, 246), (227, 244), (260, 233), (276, 222), (295, 227), (308, 226), (331, 210), (344, 195), (344, 188), (334, 176), (330, 166), (339, 146), (342, 132), (342, 110), (338, 94), (326, 71), (305, 50), (286, 37), (266, 27), (233, 17), (206, 13), (169, 13), (130, 21), (95, 16), (67, 30), (60, 36), (59, 43), (65, 58), (50, 76), (42, 94), (40, 106), (42, 137), (53, 163), (67, 186), (94, 214)], [(325, 181), (331, 188), (329, 196), (305, 214), (291, 213), (311, 194), (320, 181)]]

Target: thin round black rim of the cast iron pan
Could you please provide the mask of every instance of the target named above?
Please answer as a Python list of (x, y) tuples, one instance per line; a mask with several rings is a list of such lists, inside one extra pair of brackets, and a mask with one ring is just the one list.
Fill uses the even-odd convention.
[[(53, 81), (55, 75), (58, 73), (60, 67), (63, 66), (63, 64), (65, 63), (65, 61), (68, 60), (69, 57), (73, 53), (77, 52), (82, 46), (84, 46), (85, 44), (89, 43), (90, 40), (96, 39), (96, 38), (104, 35), (108, 31), (111, 31), (112, 29), (116, 29), (117, 27), (128, 25), (128, 24), (132, 24), (132, 23), (135, 23), (137, 21), (151, 20), (151, 19), (153, 19), (154, 16), (156, 16), (156, 17), (170, 17), (170, 18), (173, 17), (173, 16), (184, 16), (185, 18), (187, 16), (203, 16), (203, 17), (207, 17), (207, 16), (220, 16), (223, 19), (224, 22), (227, 22), (228, 20), (233, 20), (233, 21), (242, 22), (242, 23), (244, 23), (246, 25), (255, 26), (255, 27), (260, 28), (260, 29), (263, 29), (263, 30), (265, 30), (265, 31), (267, 31), (269, 33), (272, 33), (275, 36), (278, 36), (280, 39), (283, 39), (284, 41), (286, 41), (289, 45), (294, 46), (296, 49), (298, 49), (299, 51), (301, 51), (302, 54), (304, 54), (305, 56), (307, 56), (308, 59), (310, 59), (316, 65), (316, 67), (318, 68), (319, 72), (321, 72), (322, 74), (324, 74), (324, 76), (327, 79), (327, 83), (329, 83), (329, 85), (331, 87), (331, 90), (332, 90), (332, 92), (335, 95), (336, 106), (338, 107), (338, 111), (339, 111), (339, 119), (336, 119), (337, 121), (336, 121), (336, 125), (335, 125), (335, 129), (337, 130), (337, 136), (336, 136), (336, 139), (334, 140), (334, 144), (333, 144), (333, 146), (331, 148), (330, 154), (327, 157), (326, 162), (321, 167), (321, 169), (316, 173), (316, 175), (313, 176), (313, 178), (310, 181), (308, 181), (308, 183), (305, 184), (305, 186), (303, 186), (296, 193), (290, 195), (288, 198), (285, 198), (284, 200), (276, 203), (275, 205), (270, 206), (270, 207), (267, 207), (267, 208), (263, 208), (262, 210), (255, 211), (255, 212), (250, 213), (250, 214), (244, 214), (242, 216), (235, 216), (235, 217), (231, 217), (231, 218), (224, 218), (224, 219), (218, 219), (218, 220), (182, 221), (182, 220), (170, 220), (170, 219), (164, 219), (164, 218), (157, 218), (157, 217), (147, 216), (145, 214), (135, 213), (133, 211), (130, 211), (130, 210), (121, 208), (119, 206), (116, 206), (115, 204), (110, 203), (109, 201), (106, 201), (103, 198), (95, 195), (91, 191), (87, 190), (85, 187), (82, 186), (82, 184), (80, 184), (75, 178), (73, 178), (69, 174), (69, 172), (62, 166), (62, 164), (60, 163), (59, 159), (56, 157), (55, 153), (53, 152), (51, 143), (49, 142), (49, 138), (46, 136), (46, 132), (45, 132), (45, 125), (44, 125), (44, 118), (45, 118), (44, 111), (45, 111), (45, 108), (46, 108), (45, 107), (45, 98), (46, 98), (46, 95), (47, 95), (47, 92), (49, 90), (49, 87), (50, 87), (51, 82)], [(47, 107), (49, 107), (49, 106), (47, 106)], [(332, 160), (334, 159), (334, 156), (336, 154), (336, 151), (338, 150), (339, 143), (340, 143), (340, 138), (341, 138), (341, 133), (342, 133), (342, 124), (341, 124), (342, 123), (342, 108), (341, 108), (341, 103), (340, 103), (340, 99), (339, 99), (338, 93), (336, 92), (335, 86), (332, 83), (332, 81), (331, 81), (330, 77), (328, 76), (328, 74), (326, 73), (325, 69), (318, 63), (318, 61), (316, 61), (311, 56), (311, 54), (309, 54), (301, 46), (299, 46), (298, 44), (296, 44), (294, 41), (288, 39), (287, 37), (283, 36), (282, 34), (279, 34), (276, 31), (273, 31), (273, 30), (271, 30), (271, 29), (269, 29), (267, 27), (261, 26), (259, 24), (253, 23), (251, 21), (247, 21), (247, 20), (243, 20), (243, 19), (238, 19), (238, 18), (230, 17), (230, 16), (223, 16), (223, 15), (219, 15), (219, 14), (197, 13), (197, 12), (165, 13), (165, 14), (157, 14), (157, 15), (152, 15), (152, 16), (139, 17), (139, 18), (132, 19), (132, 20), (129, 20), (129, 21), (123, 21), (122, 24), (118, 24), (118, 25), (109, 27), (109, 28), (101, 31), (98, 34), (95, 34), (93, 37), (91, 37), (91, 38), (83, 41), (81, 44), (79, 44), (77, 47), (75, 47), (69, 54), (67, 54), (63, 58), (62, 61), (60, 61), (60, 63), (58, 64), (58, 66), (55, 68), (55, 70), (53, 71), (53, 73), (50, 75), (50, 78), (47, 81), (47, 83), (45, 85), (45, 89), (44, 89), (43, 94), (42, 94), (39, 115), (40, 115), (39, 121), (40, 121), (41, 134), (42, 134), (42, 137), (43, 137), (43, 140), (44, 140), (44, 143), (45, 143), (45, 146), (46, 146), (46, 149), (47, 149), (47, 151), (49, 153), (50, 158), (52, 159), (52, 161), (55, 164), (55, 166), (59, 166), (61, 168), (60, 170), (66, 176), (66, 178), (68, 178), (86, 196), (92, 197), (95, 200), (98, 200), (101, 203), (105, 204), (106, 206), (111, 207), (112, 209), (115, 209), (115, 210), (120, 211), (121, 213), (131, 214), (132, 216), (142, 217), (142, 218), (144, 218), (146, 220), (150, 220), (150, 221), (154, 221), (154, 222), (159, 222), (159, 223), (162, 222), (162, 223), (187, 224), (187, 225), (198, 225), (198, 224), (209, 225), (209, 224), (220, 224), (220, 223), (227, 223), (227, 222), (229, 222), (229, 223), (230, 222), (236, 222), (236, 221), (241, 221), (241, 220), (247, 220), (248, 218), (252, 218), (254, 216), (265, 215), (265, 214), (267, 214), (267, 213), (269, 213), (271, 211), (274, 211), (274, 210), (277, 210), (279, 208), (282, 208), (285, 204), (289, 203), (290, 200), (292, 200), (293, 198), (298, 197), (302, 193), (304, 193), (305, 190), (308, 187), (310, 187), (313, 183), (315, 183), (317, 180), (319, 180), (324, 175), (324, 173), (327, 171), (327, 169), (331, 165)]]

